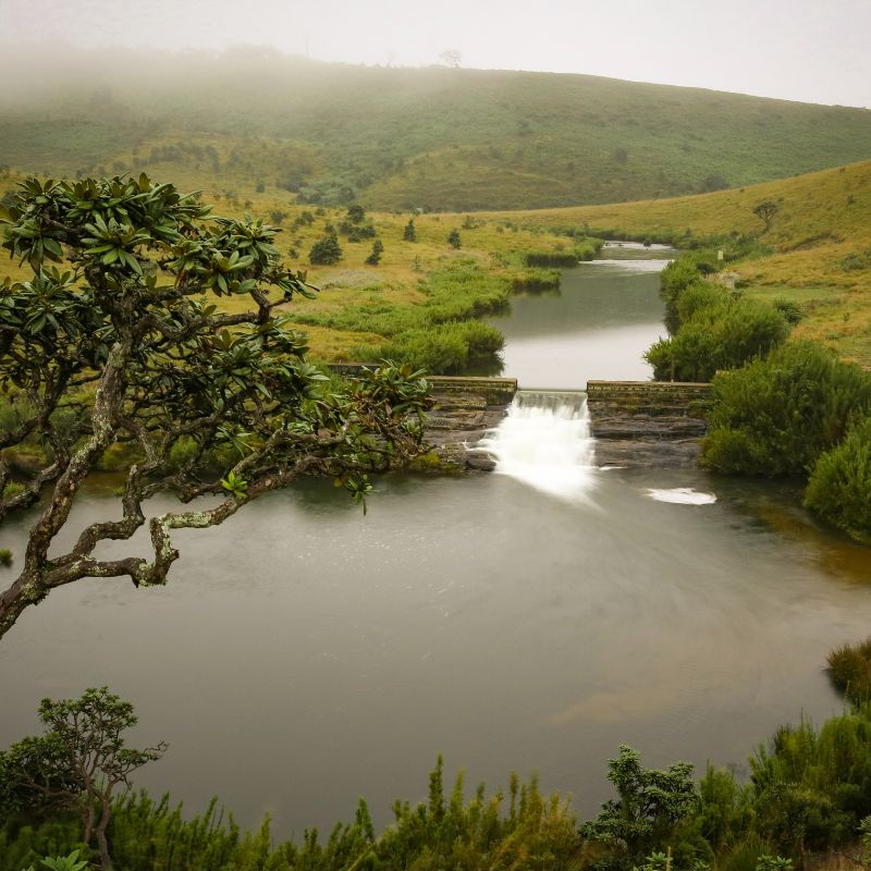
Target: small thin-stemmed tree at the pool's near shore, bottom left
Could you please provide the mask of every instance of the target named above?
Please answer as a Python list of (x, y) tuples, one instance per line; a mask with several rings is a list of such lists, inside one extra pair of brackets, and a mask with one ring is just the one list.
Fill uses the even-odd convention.
[(167, 745), (145, 750), (124, 745), (122, 733), (136, 725), (133, 706), (108, 687), (87, 689), (81, 699), (42, 699), (39, 720), (46, 734), (0, 751), (0, 810), (36, 813), (63, 809), (76, 813), (83, 841), (96, 837), (101, 867), (111, 869), (106, 830), (112, 794), (131, 787), (130, 775), (160, 759)]

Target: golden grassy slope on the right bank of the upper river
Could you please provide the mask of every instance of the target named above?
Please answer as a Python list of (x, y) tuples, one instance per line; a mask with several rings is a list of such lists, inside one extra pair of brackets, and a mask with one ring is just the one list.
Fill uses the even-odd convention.
[[(753, 213), (763, 201), (776, 205), (769, 229)], [(871, 367), (871, 162), (701, 196), (487, 218), (638, 237), (759, 234), (768, 252), (728, 267), (746, 292), (795, 299), (805, 314), (797, 335)]]

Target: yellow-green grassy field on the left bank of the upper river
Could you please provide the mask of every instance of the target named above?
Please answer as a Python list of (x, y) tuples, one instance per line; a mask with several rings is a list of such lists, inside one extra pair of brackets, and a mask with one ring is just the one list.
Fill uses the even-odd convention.
[[(7, 173), (0, 177), (0, 194), (14, 189), (23, 179), (19, 173)], [(208, 193), (204, 194), (204, 199), (207, 198)], [(286, 196), (277, 199), (274, 194), (256, 191), (244, 201), (223, 197), (214, 204), (216, 214), (238, 217), (246, 211), (267, 221), (280, 212), (280, 252), (289, 266), (306, 271), (307, 281), (320, 289), (314, 299), (293, 300), (287, 311), (307, 334), (311, 356), (324, 363), (354, 359), (364, 349), (367, 360), (388, 353), (402, 354), (413, 346), (420, 347), (421, 330), (501, 310), (513, 292), (555, 290), (559, 272), (529, 268), (527, 253), (571, 256), (576, 260), (575, 253), (591, 256), (598, 244), (594, 240), (522, 229), (505, 221), (473, 220), (466, 214), (415, 216), (417, 240), (406, 242), (403, 236), (407, 213), (370, 212), (366, 220), (371, 221), (384, 246), (377, 266), (366, 263), (371, 238), (355, 243), (342, 233), (340, 262), (311, 266), (308, 253), (312, 244), (323, 236), (328, 224), (341, 228), (347, 217), (346, 208), (299, 206)], [(447, 235), (454, 229), (463, 236), (459, 250), (447, 243)], [(26, 265), (21, 267), (9, 259), (0, 261), (0, 278), (4, 274), (13, 281), (32, 278)], [(250, 307), (247, 297), (222, 297), (218, 303), (230, 311)], [(441, 333), (455, 349), (456, 342), (468, 342), (474, 336), (478, 349), (490, 348), (492, 356), (498, 344), (494, 336), (483, 335), (480, 330), (446, 327)], [(466, 352), (475, 356), (474, 348)], [(433, 359), (441, 359), (454, 371), (457, 360), (467, 358), (466, 352), (452, 355), (450, 361), (441, 355)]]

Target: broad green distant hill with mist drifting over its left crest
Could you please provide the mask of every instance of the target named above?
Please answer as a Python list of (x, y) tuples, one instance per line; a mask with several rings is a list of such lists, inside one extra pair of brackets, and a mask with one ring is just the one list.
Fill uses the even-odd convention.
[(518, 209), (675, 196), (871, 158), (867, 110), (594, 76), (254, 50), (7, 60), (28, 76), (0, 76), (0, 164), (145, 169), (243, 200), (269, 191), (387, 210)]

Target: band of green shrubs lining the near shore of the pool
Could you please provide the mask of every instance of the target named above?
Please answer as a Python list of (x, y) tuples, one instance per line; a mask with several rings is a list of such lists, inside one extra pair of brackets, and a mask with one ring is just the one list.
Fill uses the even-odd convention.
[[(81, 841), (82, 824), (72, 811), (47, 811), (44, 799), (16, 788), (19, 769), (8, 762), (30, 752), (25, 747), (33, 744), (0, 753), (0, 806), (7, 811), (0, 827), (0, 871), (21, 871), (47, 854), (73, 849), (85, 858), (94, 856)], [(26, 758), (33, 759), (33, 752)], [(57, 756), (53, 760), (58, 765)], [(338, 823), (326, 837), (307, 830), (299, 841), (277, 841), (268, 817), (257, 831), (242, 831), (232, 815), (224, 818), (218, 810), (217, 801), (204, 814), (185, 819), (169, 797), (155, 801), (138, 793), (112, 805), (107, 843), (114, 867), (128, 871), (663, 871), (666, 850), (670, 867), (679, 871), (803, 869), (811, 862), (817, 867), (830, 850), (847, 852), (858, 867), (867, 867), (867, 706), (820, 728), (801, 722), (778, 729), (750, 757), (749, 772), (744, 781), (733, 770), (709, 766), (697, 784), (691, 765), (646, 769), (637, 752), (621, 747), (608, 769), (615, 798), (594, 819), (578, 824), (571, 801), (542, 795), (535, 776), (520, 783), (512, 775), (507, 790), (488, 793), (481, 784), (468, 797), (461, 773), (447, 790), (439, 758), (428, 799), (394, 802), (394, 821), (379, 834), (363, 799), (354, 821)], [(66, 788), (76, 789), (69, 783)]]

